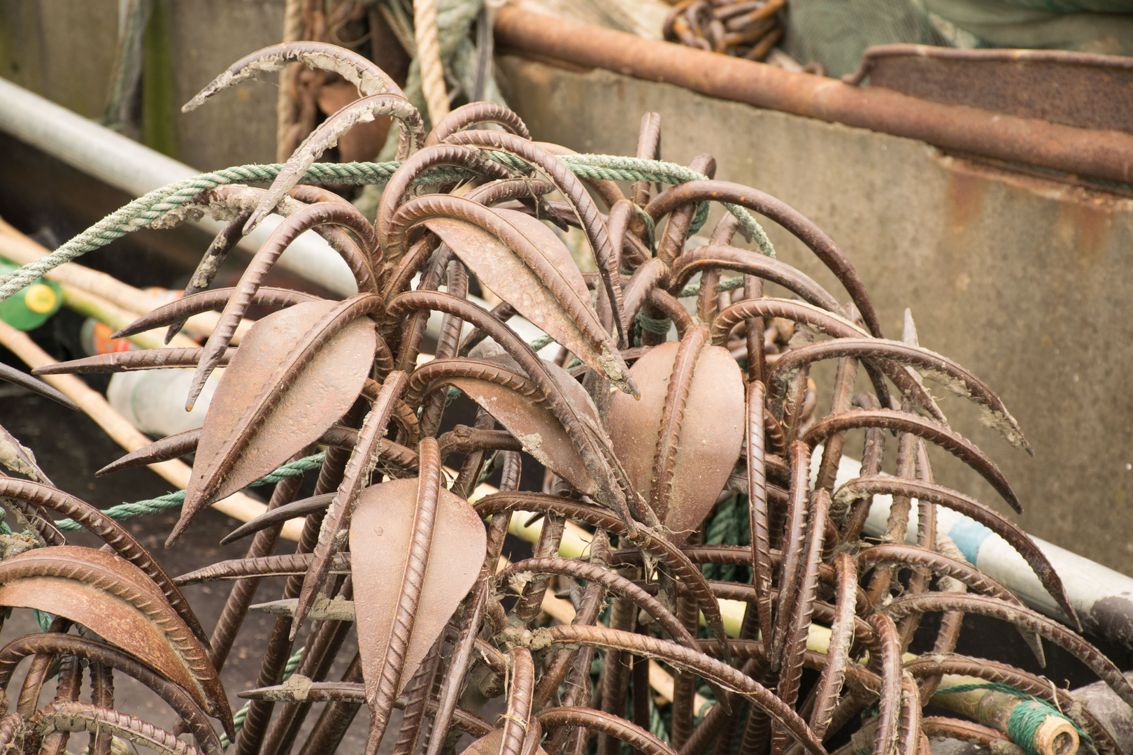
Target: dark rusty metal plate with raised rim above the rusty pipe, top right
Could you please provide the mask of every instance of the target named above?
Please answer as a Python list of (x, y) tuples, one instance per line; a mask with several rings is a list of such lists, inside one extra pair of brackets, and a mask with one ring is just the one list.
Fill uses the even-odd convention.
[(1133, 60), (1119, 55), (883, 44), (844, 80), (866, 78), (920, 100), (1133, 134)]

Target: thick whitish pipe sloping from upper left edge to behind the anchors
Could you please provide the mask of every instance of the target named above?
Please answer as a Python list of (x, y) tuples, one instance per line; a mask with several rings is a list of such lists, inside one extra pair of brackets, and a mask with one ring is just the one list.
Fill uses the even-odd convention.
[[(201, 173), (2, 78), (0, 130), (133, 196)], [(238, 246), (255, 252), (281, 222), (269, 216)], [(215, 235), (222, 224), (204, 217), (197, 225)], [(347, 264), (310, 231), (291, 242), (279, 264), (339, 295), (358, 291)]]

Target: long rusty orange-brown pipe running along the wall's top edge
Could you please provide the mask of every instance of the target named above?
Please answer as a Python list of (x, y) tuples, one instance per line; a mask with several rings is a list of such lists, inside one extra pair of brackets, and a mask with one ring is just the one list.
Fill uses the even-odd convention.
[[(505, 6), (496, 44), (627, 76), (675, 84), (757, 108), (920, 139), (957, 152), (1119, 183), (1133, 182), (1133, 135), (1062, 126), (964, 105), (918, 100), (881, 87), (783, 70), (668, 42)], [(506, 50), (503, 50), (506, 51)]]

